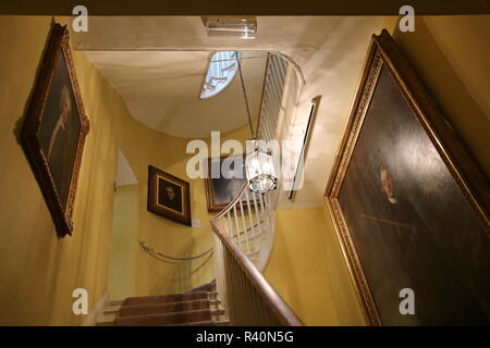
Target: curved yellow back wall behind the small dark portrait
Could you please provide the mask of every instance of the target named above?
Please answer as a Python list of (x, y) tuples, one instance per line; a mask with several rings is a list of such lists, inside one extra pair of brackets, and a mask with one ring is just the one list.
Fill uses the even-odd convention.
[[(244, 141), (247, 130), (247, 127), (242, 127), (230, 132), (222, 135), (222, 140)], [(133, 117), (121, 122), (118, 132), (121, 150), (138, 181), (139, 239), (173, 257), (195, 256), (208, 250), (212, 246), (212, 232), (205, 184), (201, 178), (186, 176), (187, 161), (194, 156), (185, 153), (189, 139), (161, 134)], [(205, 140), (209, 142), (209, 139)], [(148, 164), (189, 182), (192, 217), (200, 220), (200, 227), (188, 227), (147, 211)], [(210, 282), (213, 278), (210, 256), (185, 262), (158, 261), (138, 248), (135, 295), (177, 293)]]

